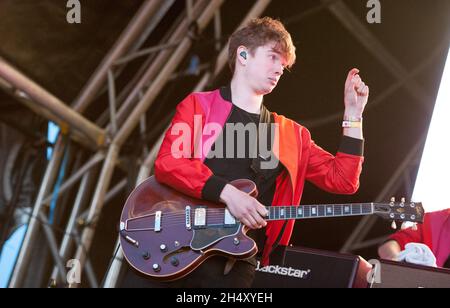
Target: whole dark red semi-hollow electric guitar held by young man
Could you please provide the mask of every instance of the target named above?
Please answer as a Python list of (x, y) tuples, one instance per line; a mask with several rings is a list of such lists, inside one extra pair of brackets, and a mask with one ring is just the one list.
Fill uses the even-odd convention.
[[(256, 197), (256, 185), (233, 186)], [(385, 219), (423, 222), (421, 203), (361, 203), (268, 206), (265, 219), (290, 220), (376, 214)], [(120, 243), (128, 263), (160, 281), (182, 278), (213, 255), (246, 259), (257, 253), (246, 226), (223, 204), (188, 197), (150, 177), (128, 197), (120, 220)]]

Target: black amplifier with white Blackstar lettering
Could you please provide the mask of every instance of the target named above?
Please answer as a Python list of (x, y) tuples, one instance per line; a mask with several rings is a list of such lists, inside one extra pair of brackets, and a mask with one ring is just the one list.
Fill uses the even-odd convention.
[(284, 261), (262, 267), (258, 262), (255, 288), (351, 288), (359, 257), (310, 248), (288, 247)]

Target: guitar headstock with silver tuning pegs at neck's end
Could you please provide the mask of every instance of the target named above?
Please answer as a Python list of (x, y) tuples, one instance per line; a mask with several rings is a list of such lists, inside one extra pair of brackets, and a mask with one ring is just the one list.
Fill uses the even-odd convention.
[(424, 213), (421, 202), (406, 202), (405, 198), (402, 198), (400, 202), (395, 202), (395, 198), (392, 198), (390, 203), (374, 205), (374, 214), (392, 220), (393, 228), (395, 221), (423, 223)]

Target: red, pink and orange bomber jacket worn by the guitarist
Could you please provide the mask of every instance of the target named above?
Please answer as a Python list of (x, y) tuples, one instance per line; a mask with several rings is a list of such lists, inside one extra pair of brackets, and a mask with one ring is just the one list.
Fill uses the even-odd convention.
[[(203, 163), (220, 132), (202, 133), (208, 123), (217, 123), (222, 128), (230, 115), (232, 103), (220, 95), (219, 90), (190, 94), (178, 106), (172, 124), (167, 131), (155, 161), (154, 172), (159, 182), (195, 198), (202, 197), (202, 189), (213, 175)], [(285, 170), (276, 180), (272, 205), (299, 205), (305, 180), (321, 189), (338, 194), (353, 194), (359, 188), (359, 176), (363, 157), (338, 152), (336, 156), (320, 148), (311, 140), (310, 132), (284, 116), (272, 113), (279, 126), (279, 149), (274, 152)], [(194, 116), (197, 116), (194, 119)], [(199, 120), (201, 119), (201, 120)], [(195, 152), (193, 158), (175, 158), (172, 144), (180, 136), (172, 133), (177, 123), (185, 123), (197, 134), (190, 136), (191, 148), (180, 149)], [(177, 147), (175, 147), (177, 148)], [(202, 149), (201, 151), (196, 149)], [(267, 264), (272, 245), (283, 227), (284, 221), (268, 222), (267, 240), (263, 251), (263, 264)], [(280, 244), (288, 245), (294, 221), (287, 223)]]

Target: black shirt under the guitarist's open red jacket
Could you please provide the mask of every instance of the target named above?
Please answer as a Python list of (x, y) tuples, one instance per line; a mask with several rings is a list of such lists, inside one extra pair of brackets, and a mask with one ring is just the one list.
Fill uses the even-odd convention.
[[(221, 88), (220, 93), (223, 99), (232, 102), (231, 89), (229, 87)], [(228, 182), (237, 179), (249, 179), (256, 184), (258, 189), (258, 196), (256, 199), (265, 206), (272, 205), (276, 188), (276, 179), (284, 170), (284, 166), (276, 159), (273, 152), (270, 158), (266, 157), (265, 160), (261, 158), (261, 156), (267, 156), (268, 151), (271, 151), (272, 149), (272, 143), (270, 142), (272, 133), (270, 129), (261, 131), (261, 137), (267, 138), (265, 144), (261, 143), (262, 145), (265, 145), (265, 151), (261, 151), (262, 148), (260, 149), (258, 146), (260, 143), (258, 139), (260, 131), (259, 124), (261, 122), (273, 123), (273, 118), (270, 117), (269, 111), (264, 106), (261, 107), (261, 114), (255, 114), (247, 112), (233, 104), (230, 115), (222, 129), (221, 136), (216, 141), (216, 143), (222, 142), (222, 149), (220, 152), (223, 153), (221, 156), (223, 158), (207, 158), (204, 162), (214, 174), (210, 180), (207, 181), (205, 188), (203, 189), (202, 194), (205, 199), (219, 202), (220, 193)], [(233, 127), (230, 125), (236, 125), (238, 123), (243, 126), (254, 124), (257, 129), (256, 140), (254, 140), (255, 138), (250, 140), (250, 134), (248, 132), (245, 133), (245, 150), (244, 153), (240, 153), (240, 156), (238, 155), (237, 146), (239, 135), (236, 130), (234, 130), (234, 140), (228, 140), (227, 142), (227, 136), (231, 136), (233, 133)], [(216, 150), (216, 143), (211, 147), (212, 152)], [(242, 145), (242, 140), (240, 143)], [(234, 146), (234, 148), (229, 149), (231, 146)], [(229, 153), (227, 153), (227, 149), (229, 150)], [(233, 149), (234, 151), (232, 151)], [(268, 159), (276, 159), (277, 163), (274, 164), (276, 167), (262, 170), (260, 168), (261, 162), (267, 161)], [(261, 253), (265, 241), (264, 229), (250, 230), (247, 235), (255, 240), (258, 250)]]

